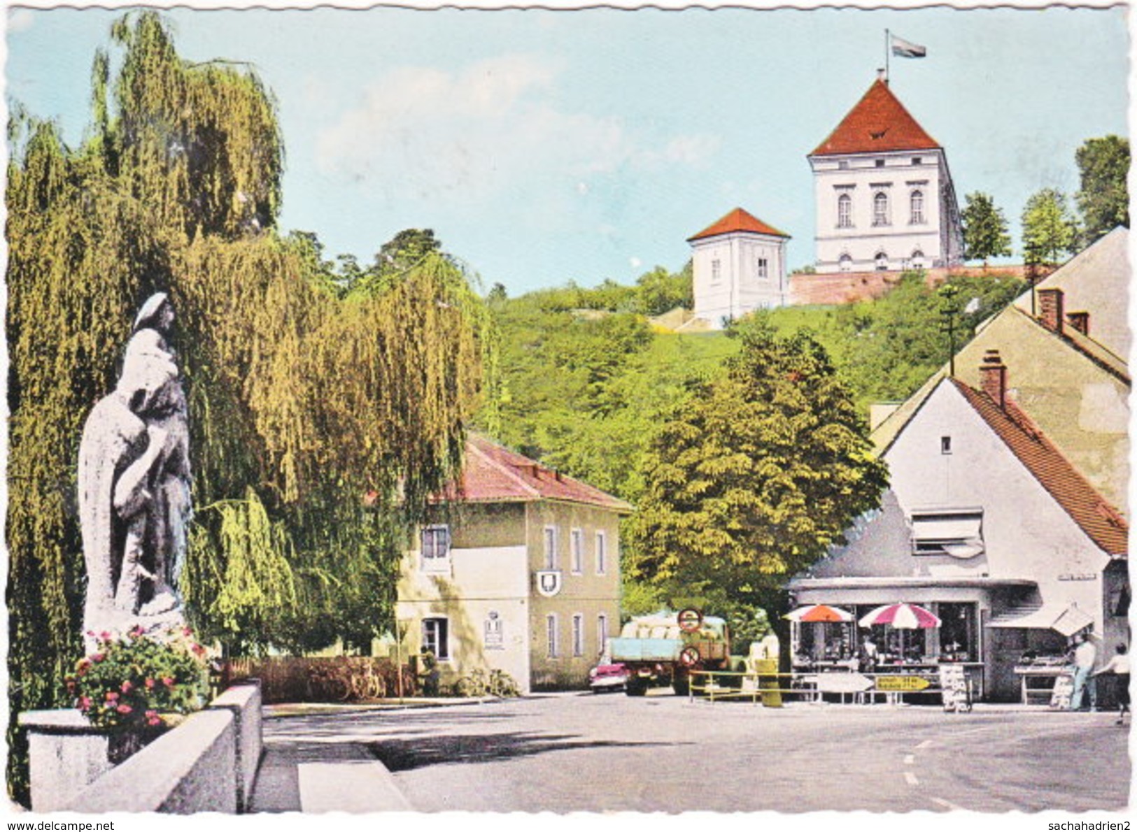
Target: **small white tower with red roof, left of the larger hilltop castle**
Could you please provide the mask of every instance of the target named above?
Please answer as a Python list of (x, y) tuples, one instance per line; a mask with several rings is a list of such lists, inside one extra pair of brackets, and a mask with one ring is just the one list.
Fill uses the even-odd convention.
[(785, 306), (787, 240), (741, 208), (688, 238), (695, 317), (719, 328), (755, 309)]

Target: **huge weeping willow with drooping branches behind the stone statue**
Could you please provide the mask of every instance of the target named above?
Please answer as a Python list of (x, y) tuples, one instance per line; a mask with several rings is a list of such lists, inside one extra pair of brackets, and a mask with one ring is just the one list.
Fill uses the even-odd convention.
[(91, 81), (77, 148), (18, 108), (9, 124), (8, 784), (22, 801), (14, 716), (68, 706), (82, 649), (82, 424), (146, 297), (174, 299), (190, 393), (184, 594), (231, 651), (360, 643), (389, 624), (404, 530), (460, 465), (491, 366), (485, 311), (447, 257), (340, 299), (277, 235), (283, 141), (249, 67), (181, 59), (143, 11), (115, 24)]

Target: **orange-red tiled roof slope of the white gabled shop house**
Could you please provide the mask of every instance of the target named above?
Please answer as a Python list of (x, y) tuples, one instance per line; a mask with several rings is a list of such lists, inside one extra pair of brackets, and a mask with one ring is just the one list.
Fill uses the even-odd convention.
[(1107, 555), (1129, 554), (1129, 524), (1014, 402), (1005, 409), (990, 397), (952, 378), (956, 389), (1027, 469)]

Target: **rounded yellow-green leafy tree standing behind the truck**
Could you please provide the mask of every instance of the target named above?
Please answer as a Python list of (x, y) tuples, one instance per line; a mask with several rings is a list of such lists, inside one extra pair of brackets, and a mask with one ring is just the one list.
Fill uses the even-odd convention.
[(839, 542), (887, 480), (812, 336), (778, 338), (765, 316), (737, 336), (725, 374), (696, 384), (650, 443), (629, 567), (758, 602)]

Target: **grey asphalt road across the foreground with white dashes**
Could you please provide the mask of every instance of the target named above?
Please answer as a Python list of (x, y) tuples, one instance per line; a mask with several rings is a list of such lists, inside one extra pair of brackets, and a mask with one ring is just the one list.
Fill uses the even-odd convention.
[(573, 693), (273, 718), (266, 741), (379, 759), (418, 812), (1120, 812), (1114, 718)]

